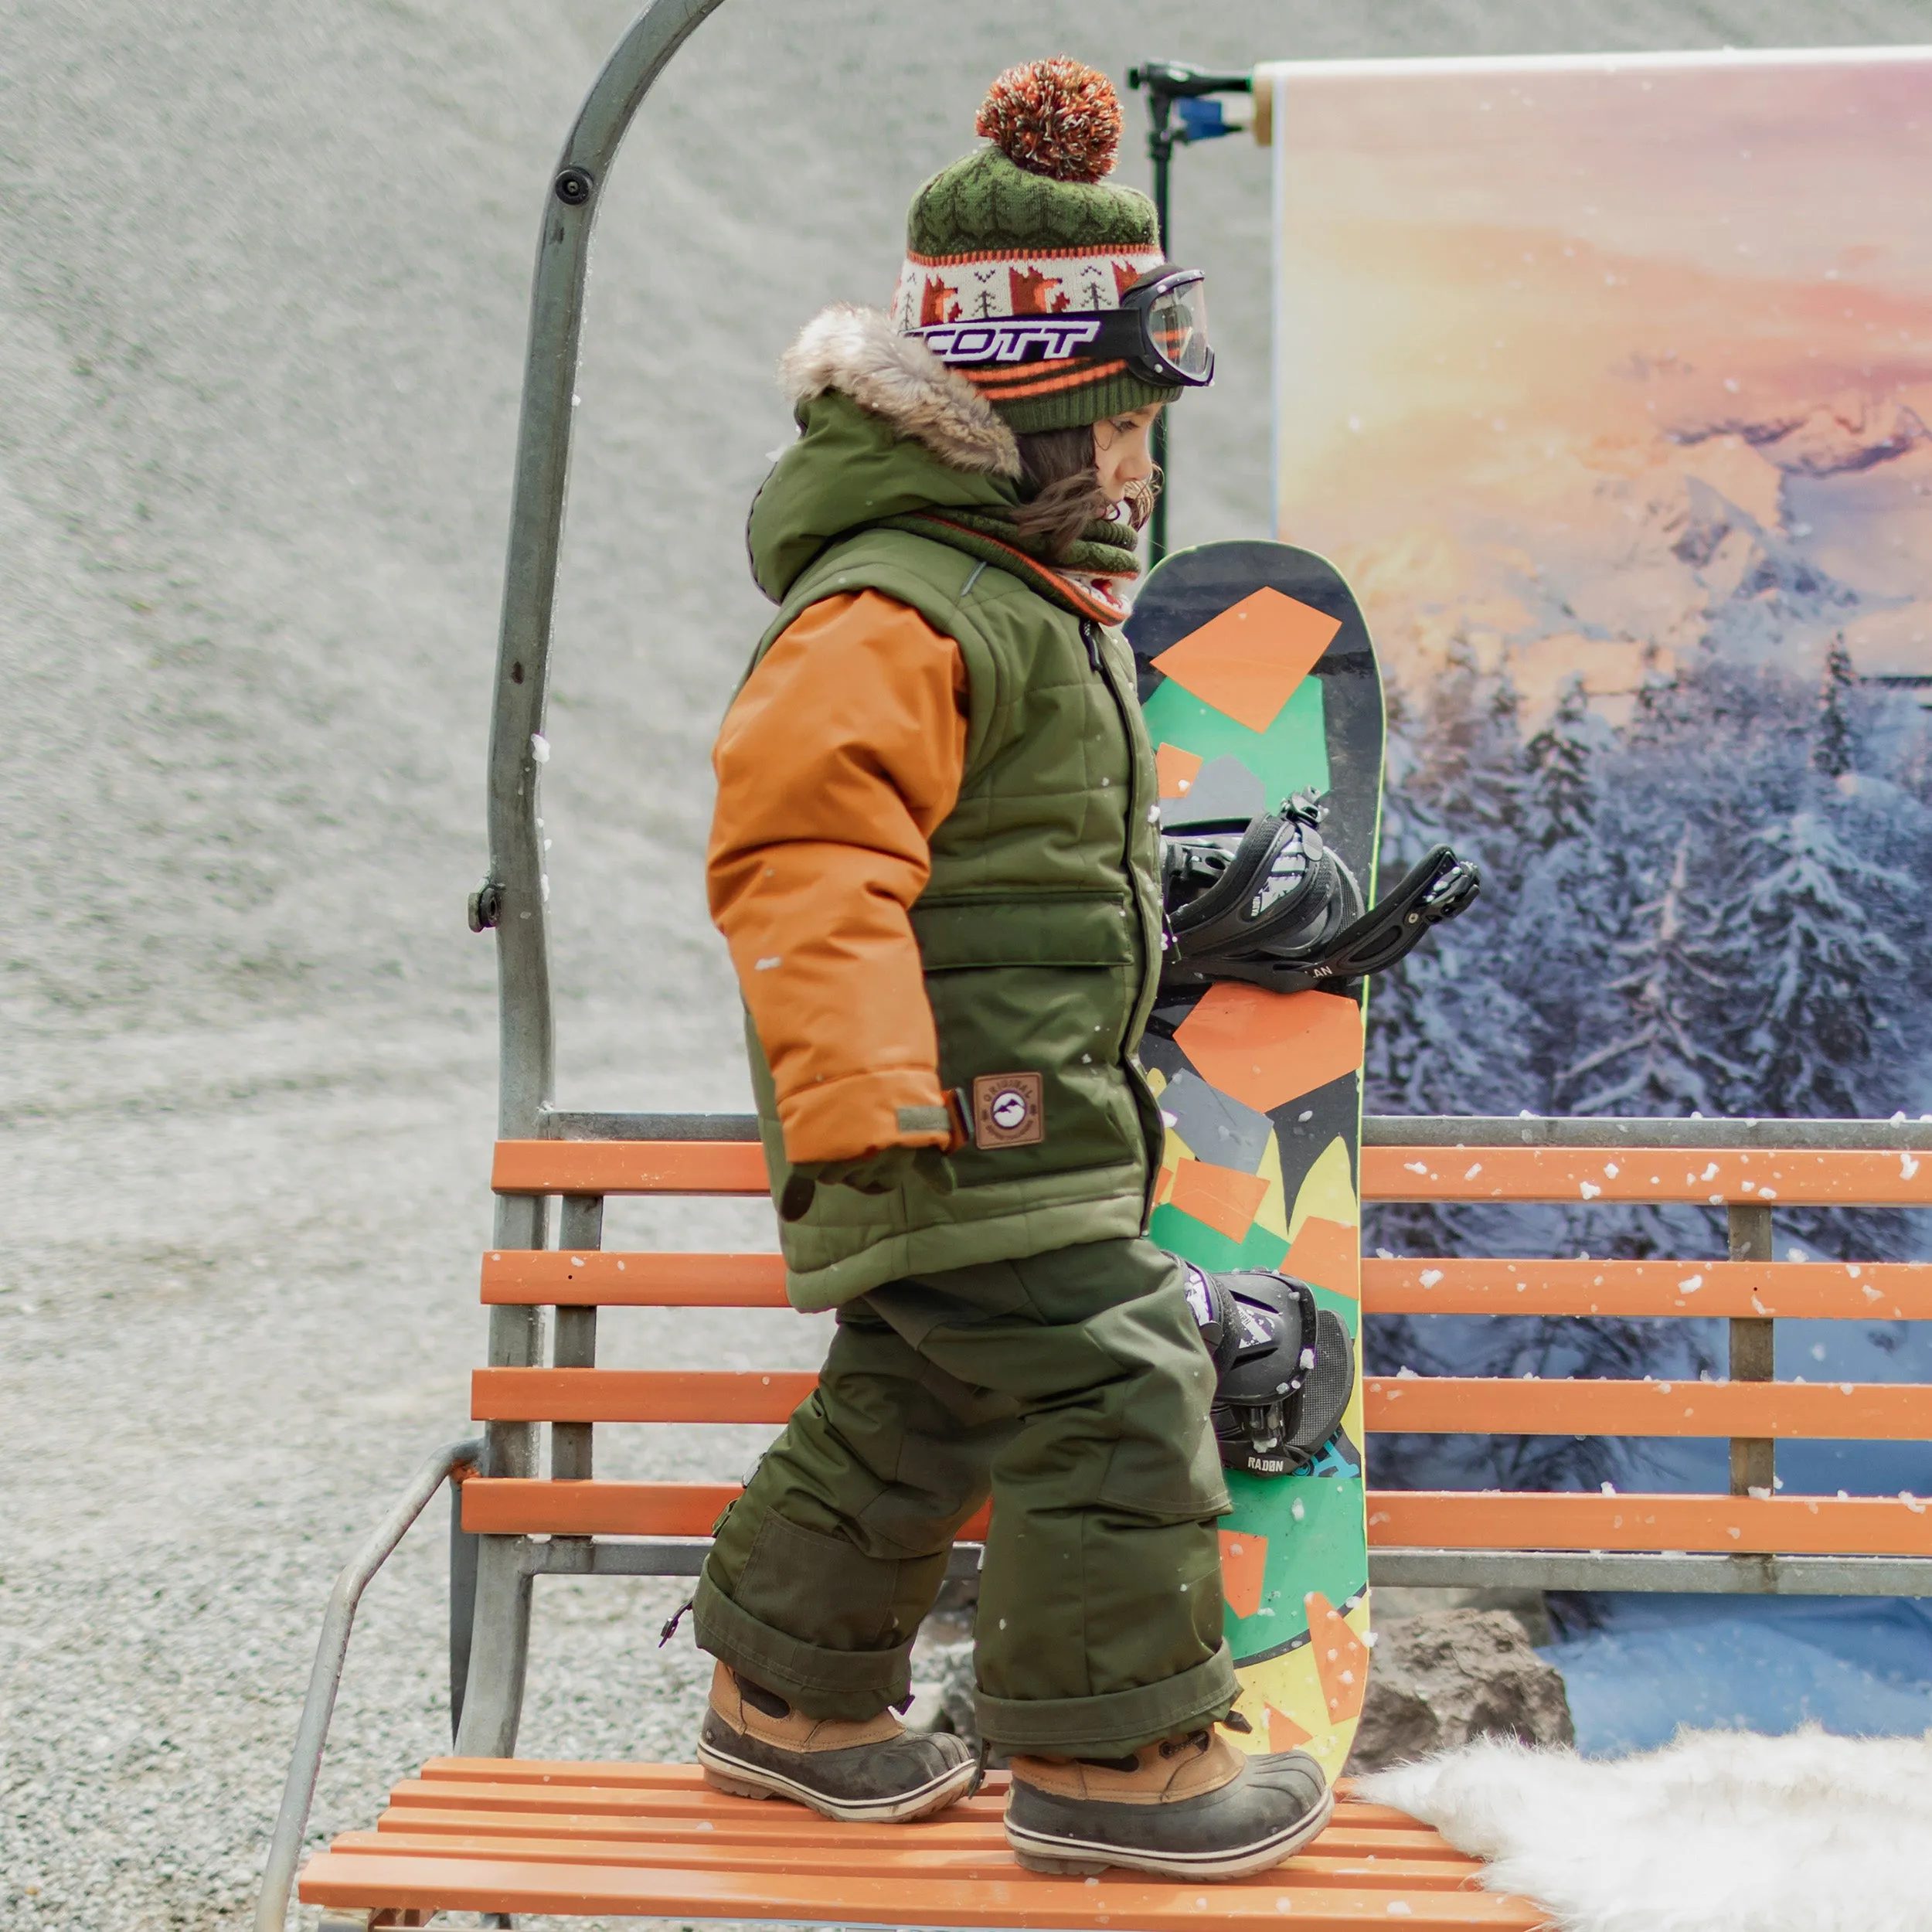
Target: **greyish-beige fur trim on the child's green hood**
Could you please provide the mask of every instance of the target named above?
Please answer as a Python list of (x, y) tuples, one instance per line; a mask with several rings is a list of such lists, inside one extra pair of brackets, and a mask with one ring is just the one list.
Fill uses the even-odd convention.
[(952, 469), (1020, 473), (1020, 446), (993, 406), (879, 309), (838, 301), (813, 315), (779, 357), (779, 381), (794, 406), (829, 388), (850, 396)]

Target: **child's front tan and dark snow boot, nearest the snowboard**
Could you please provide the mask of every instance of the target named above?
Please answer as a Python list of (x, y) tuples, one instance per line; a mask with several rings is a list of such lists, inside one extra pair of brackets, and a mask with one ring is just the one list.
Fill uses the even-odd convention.
[(1250, 1758), (1190, 1731), (1121, 1758), (1014, 1758), (1007, 1843), (1030, 1872), (1244, 1878), (1300, 1851), (1333, 1808), (1306, 1752)]

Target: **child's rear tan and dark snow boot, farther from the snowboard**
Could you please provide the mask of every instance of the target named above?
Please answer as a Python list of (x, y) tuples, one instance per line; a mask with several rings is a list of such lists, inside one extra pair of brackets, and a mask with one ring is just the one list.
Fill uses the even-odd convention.
[(962, 1737), (916, 1737), (889, 1712), (852, 1723), (808, 1718), (723, 1663), (697, 1733), (713, 1791), (792, 1799), (825, 1818), (904, 1824), (966, 1795), (978, 1772)]

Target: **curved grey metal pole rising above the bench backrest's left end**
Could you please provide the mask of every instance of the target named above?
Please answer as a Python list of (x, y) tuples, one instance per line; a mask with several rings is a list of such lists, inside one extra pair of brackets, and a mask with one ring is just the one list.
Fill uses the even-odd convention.
[[(489, 740), (489, 883), (475, 922), (497, 927), (500, 1074), (497, 1130), (537, 1132), (551, 1099), (551, 962), (543, 920), (543, 840), (537, 835), (535, 740), (551, 670), (551, 611), (570, 471), (570, 398), (583, 323), (591, 222), (624, 129), (651, 83), (723, 0), (655, 0), (618, 41), (578, 108), (545, 193), (529, 296), (524, 412), (516, 435), (510, 554), (497, 643)], [(498, 1240), (516, 1231), (498, 1229)], [(526, 1242), (512, 1240), (514, 1246)]]

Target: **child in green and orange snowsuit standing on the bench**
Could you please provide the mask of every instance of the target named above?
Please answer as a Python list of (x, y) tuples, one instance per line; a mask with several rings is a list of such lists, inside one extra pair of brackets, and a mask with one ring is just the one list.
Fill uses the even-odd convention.
[(833, 1818), (966, 1793), (966, 1745), (893, 1706), (991, 1492), (978, 1714), (1014, 1851), (1225, 1878), (1331, 1801), (1215, 1729), (1217, 1331), (1144, 1233), (1159, 821), (1109, 626), (1150, 427), (1213, 359), (1200, 278), (1101, 182), (1103, 75), (1016, 68), (978, 131), (912, 203), (893, 315), (829, 309), (786, 354), (800, 437), (752, 508), (779, 614), (719, 734), (711, 910), (790, 1294), (838, 1329), (697, 1586), (697, 1756)]

